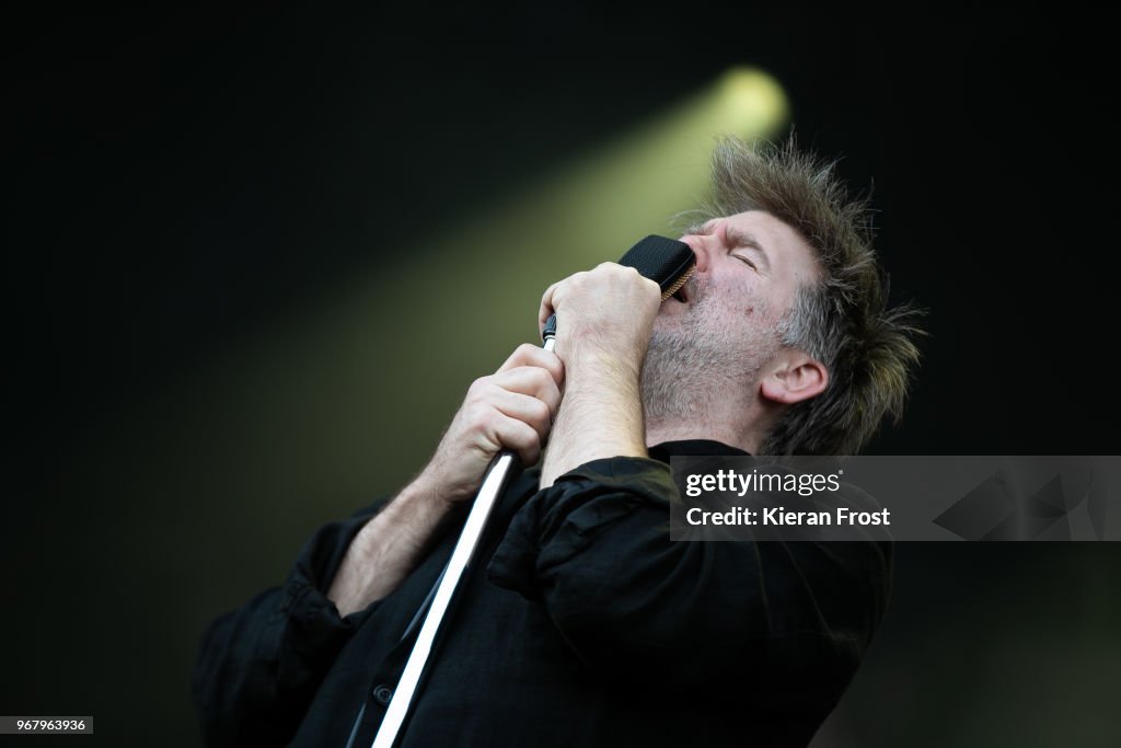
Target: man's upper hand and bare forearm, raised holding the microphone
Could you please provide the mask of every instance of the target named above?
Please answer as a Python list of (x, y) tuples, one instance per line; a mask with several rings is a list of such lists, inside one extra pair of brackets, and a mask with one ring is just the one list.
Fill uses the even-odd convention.
[(658, 284), (613, 262), (545, 292), (539, 321), (557, 315), (566, 379), (541, 488), (591, 460), (646, 456), (639, 378), (660, 303)]

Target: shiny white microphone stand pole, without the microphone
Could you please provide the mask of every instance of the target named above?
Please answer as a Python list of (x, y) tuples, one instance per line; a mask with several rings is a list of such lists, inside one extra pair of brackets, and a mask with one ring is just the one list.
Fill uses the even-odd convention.
[[(545, 350), (552, 351), (556, 340), (555, 315), (549, 317), (548, 323), (546, 323), (543, 336), (545, 339)], [(452, 557), (448, 560), (444, 573), (436, 583), (435, 594), (430, 595), (432, 606), (428, 608), (427, 616), (425, 616), (424, 625), (421, 625), (420, 632), (417, 635), (416, 644), (413, 645), (413, 652), (409, 653), (409, 658), (405, 663), (401, 680), (398, 682), (397, 689), (389, 701), (389, 707), (386, 709), (386, 717), (378, 727), (378, 733), (373, 738), (371, 748), (392, 748), (397, 740), (401, 726), (405, 723), (405, 715), (408, 713), (409, 707), (413, 704), (413, 698), (416, 695), (420, 676), (424, 675), (425, 666), (428, 664), (433, 646), (436, 643), (436, 636), (439, 634), (439, 627), (444, 622), (448, 606), (452, 603), (452, 595), (458, 588), (460, 580), (463, 578), (467, 566), (471, 565), (471, 562), (475, 557), (475, 551), (479, 550), (479, 541), (482, 538), (483, 529), (487, 527), (491, 511), (498, 502), (498, 497), (501, 496), (502, 489), (506, 488), (506, 482), (510, 475), (510, 469), (513, 467), (515, 459), (516, 456), (512, 452), (502, 450), (491, 462), (491, 467), (483, 478), (482, 486), (479, 487), (479, 493), (475, 495), (474, 504), (471, 505), (471, 511), (467, 514), (467, 520), (460, 533), (460, 539), (455, 543), (455, 550), (452, 551)]]

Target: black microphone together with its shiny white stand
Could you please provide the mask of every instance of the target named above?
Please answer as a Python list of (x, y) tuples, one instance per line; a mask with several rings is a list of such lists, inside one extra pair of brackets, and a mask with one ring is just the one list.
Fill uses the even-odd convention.
[[(657, 281), (661, 287), (661, 299), (665, 301), (676, 293), (693, 275), (696, 269), (696, 257), (688, 244), (651, 234), (631, 247), (619, 260), (619, 265), (632, 267), (642, 274), (643, 277)], [(545, 323), (541, 338), (545, 341), (545, 349), (552, 351), (556, 338), (555, 314)], [(460, 580), (463, 578), (469, 565), (474, 561), (475, 550), (487, 526), (487, 520), (506, 486), (506, 480), (515, 459), (512, 452), (503, 450), (491, 462), (491, 467), (483, 478), (482, 486), (479, 488), (479, 493), (475, 495), (474, 504), (471, 506), (471, 511), (463, 525), (463, 530), (460, 533), (460, 539), (452, 551), (452, 557), (447, 562), (444, 573), (441, 574), (439, 580), (436, 582), (436, 587), (428, 594), (428, 600), (425, 601), (425, 604), (428, 606), (428, 612), (424, 618), (424, 624), (420, 626), (420, 632), (417, 634), (416, 644), (413, 645), (413, 652), (405, 664), (405, 671), (401, 673), (401, 678), (393, 691), (392, 699), (386, 710), (386, 715), (382, 718), (378, 733), (374, 736), (372, 748), (392, 748), (397, 741), (397, 736), (405, 723), (405, 718), (413, 703), (420, 677), (425, 672), (428, 657), (433, 652), (441, 624), (448, 610)], [(414, 620), (419, 619), (424, 607), (423, 604), (421, 609), (417, 611)], [(413, 627), (410, 625), (402, 638), (407, 637), (411, 630)], [(359, 723), (362, 720), (364, 711), (365, 708), (363, 707), (362, 712), (359, 713), (355, 720), (354, 729), (351, 731), (351, 739), (346, 744), (348, 748), (351, 748), (355, 744)]]

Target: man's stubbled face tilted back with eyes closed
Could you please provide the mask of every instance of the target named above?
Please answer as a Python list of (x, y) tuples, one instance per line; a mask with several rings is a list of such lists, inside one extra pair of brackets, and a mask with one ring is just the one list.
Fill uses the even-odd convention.
[(642, 375), (648, 418), (712, 413), (708, 397), (725, 388), (711, 384), (721, 378), (750, 391), (779, 349), (798, 288), (818, 273), (809, 244), (761, 211), (715, 219), (682, 241), (697, 269), (655, 320)]

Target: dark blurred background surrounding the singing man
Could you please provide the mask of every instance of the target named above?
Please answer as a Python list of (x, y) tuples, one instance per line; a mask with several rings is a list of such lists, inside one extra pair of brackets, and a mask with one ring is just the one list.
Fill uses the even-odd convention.
[[(432, 311), (376, 307), (348, 358), (323, 310), (370, 279), (432, 293), (427, 234), (735, 64), (874, 184), (892, 295), (929, 311), (906, 419), (869, 452), (1121, 453), (1109, 27), (703, 1), (10, 17), (0, 713), (197, 745), (204, 625), (418, 469), (535, 313), (380, 358)], [(1119, 582), (1114, 544), (900, 544), (815, 745), (1117, 745)]]

